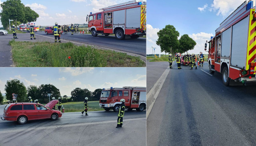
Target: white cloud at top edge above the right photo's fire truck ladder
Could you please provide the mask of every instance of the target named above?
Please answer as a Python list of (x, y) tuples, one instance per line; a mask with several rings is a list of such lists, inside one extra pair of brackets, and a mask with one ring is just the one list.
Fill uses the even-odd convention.
[(217, 16), (228, 16), (240, 6), (244, 0), (214, 0), (211, 4), (212, 10), (217, 11)]

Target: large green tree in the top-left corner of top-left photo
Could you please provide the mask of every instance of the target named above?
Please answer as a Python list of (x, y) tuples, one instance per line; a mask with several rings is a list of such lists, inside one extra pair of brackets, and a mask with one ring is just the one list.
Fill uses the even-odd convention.
[(2, 12), (0, 16), (5, 15), (8, 19), (13, 19), (15, 21), (15, 26), (17, 26), (17, 21), (22, 22), (25, 17), (24, 4), (20, 0), (7, 0), (1, 4)]

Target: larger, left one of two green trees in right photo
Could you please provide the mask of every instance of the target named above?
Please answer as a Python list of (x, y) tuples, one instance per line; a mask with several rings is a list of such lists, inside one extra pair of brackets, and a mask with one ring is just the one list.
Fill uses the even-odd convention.
[(174, 52), (178, 49), (178, 36), (180, 36), (180, 33), (176, 31), (174, 26), (166, 25), (157, 35), (158, 39), (156, 44), (160, 46), (161, 52)]

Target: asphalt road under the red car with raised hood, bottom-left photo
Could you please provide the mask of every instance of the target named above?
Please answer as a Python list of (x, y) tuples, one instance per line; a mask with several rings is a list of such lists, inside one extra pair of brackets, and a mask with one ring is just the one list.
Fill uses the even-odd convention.
[(122, 128), (116, 128), (117, 113), (113, 111), (88, 114), (67, 112), (56, 121), (32, 120), (24, 125), (1, 120), (0, 146), (146, 145), (146, 111), (126, 110)]

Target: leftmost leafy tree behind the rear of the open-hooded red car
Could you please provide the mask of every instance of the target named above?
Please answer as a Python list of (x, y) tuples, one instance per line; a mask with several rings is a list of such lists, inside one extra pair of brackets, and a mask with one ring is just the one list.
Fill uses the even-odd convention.
[(6, 91), (6, 99), (12, 101), (12, 93), (18, 94), (18, 102), (27, 101), (27, 90), (23, 82), (18, 79), (8, 80), (4, 85)]

